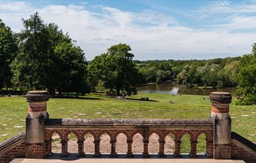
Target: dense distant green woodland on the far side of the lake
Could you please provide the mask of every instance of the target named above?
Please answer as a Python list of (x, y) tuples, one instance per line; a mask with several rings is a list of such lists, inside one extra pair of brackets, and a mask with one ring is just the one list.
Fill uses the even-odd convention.
[(187, 87), (235, 86), (240, 57), (191, 61), (136, 61), (146, 82), (165, 82), (177, 79)]

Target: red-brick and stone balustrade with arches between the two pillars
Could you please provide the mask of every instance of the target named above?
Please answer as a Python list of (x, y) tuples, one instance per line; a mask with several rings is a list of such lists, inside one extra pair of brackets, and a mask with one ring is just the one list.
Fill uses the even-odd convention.
[(132, 156), (132, 141), (136, 134), (143, 137), (144, 157), (149, 157), (148, 143), (150, 135), (155, 133), (159, 137), (160, 157), (165, 156), (164, 144), (168, 135), (174, 135), (175, 153), (180, 157), (180, 144), (183, 135), (188, 134), (191, 141), (190, 155), (196, 155), (198, 137), (206, 135), (207, 156), (213, 157), (213, 121), (212, 120), (152, 120), (152, 119), (48, 119), (45, 126), (46, 156), (52, 154), (52, 135), (58, 134), (61, 138), (61, 156), (68, 156), (68, 135), (73, 133), (78, 139), (78, 156), (84, 156), (85, 135), (94, 137), (94, 156), (100, 156), (100, 137), (107, 134), (110, 137), (111, 156), (117, 156), (115, 144), (117, 137), (124, 134), (127, 137), (127, 157)]

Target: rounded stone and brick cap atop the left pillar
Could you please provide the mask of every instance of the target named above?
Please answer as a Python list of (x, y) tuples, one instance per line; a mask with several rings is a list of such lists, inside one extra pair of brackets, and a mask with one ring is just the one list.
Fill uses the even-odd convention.
[(25, 97), (27, 102), (46, 102), (49, 100), (49, 93), (46, 90), (31, 90)]

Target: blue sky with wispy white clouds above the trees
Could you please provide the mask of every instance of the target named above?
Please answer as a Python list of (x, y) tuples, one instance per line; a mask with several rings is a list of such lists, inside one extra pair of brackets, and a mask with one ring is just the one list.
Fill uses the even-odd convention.
[(256, 1), (0, 1), (0, 19), (19, 32), (39, 12), (68, 32), (91, 61), (118, 43), (136, 60), (226, 58), (252, 52)]

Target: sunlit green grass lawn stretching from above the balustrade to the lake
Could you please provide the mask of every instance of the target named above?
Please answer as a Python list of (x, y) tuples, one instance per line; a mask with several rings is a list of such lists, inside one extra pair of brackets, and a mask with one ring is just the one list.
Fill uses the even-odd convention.
[[(140, 101), (147, 96), (153, 101)], [(184, 118), (210, 116), (207, 96), (172, 96), (168, 94), (138, 93), (125, 100), (97, 94), (80, 99), (49, 99), (47, 111), (51, 118)], [(174, 104), (170, 104), (170, 99)], [(232, 131), (256, 143), (256, 105), (237, 106), (231, 103)], [(28, 104), (25, 97), (0, 97), (0, 141), (25, 131)]]

